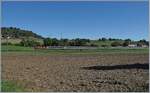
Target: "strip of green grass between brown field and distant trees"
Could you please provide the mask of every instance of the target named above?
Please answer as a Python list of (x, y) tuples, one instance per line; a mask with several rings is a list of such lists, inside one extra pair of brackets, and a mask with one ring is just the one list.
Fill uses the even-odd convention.
[(38, 49), (22, 46), (2, 46), (2, 54), (17, 53), (31, 55), (49, 55), (49, 54), (112, 54), (112, 53), (148, 53), (148, 48), (98, 48), (98, 49)]

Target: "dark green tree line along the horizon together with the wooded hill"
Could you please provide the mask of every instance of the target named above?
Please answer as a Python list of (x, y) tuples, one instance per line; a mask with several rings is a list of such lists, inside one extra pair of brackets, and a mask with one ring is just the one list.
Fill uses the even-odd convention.
[[(90, 39), (44, 38), (40, 35), (37, 35), (36, 33), (33, 33), (32, 31), (22, 30), (16, 27), (2, 27), (1, 35), (2, 35), (2, 38), (5, 38), (5, 39), (7, 39), (8, 36), (11, 38), (19, 38), (21, 39), (21, 42), (15, 45), (27, 46), (27, 47), (34, 47), (34, 46), (95, 46), (96, 47), (96, 46), (99, 46), (98, 44), (93, 43), (92, 40)], [(40, 43), (39, 41), (36, 41), (36, 40), (31, 40), (28, 37), (42, 39), (43, 43)], [(95, 41), (98, 41), (99, 43), (110, 41), (111, 42), (110, 46), (112, 47), (117, 47), (117, 46), (126, 47), (129, 44), (136, 44), (137, 46), (142, 46), (142, 45), (149, 46), (149, 42), (146, 41), (145, 39), (139, 40), (139, 41), (133, 41), (131, 39), (123, 40), (123, 39), (117, 39), (117, 38), (102, 37)], [(6, 45), (6, 44), (11, 45), (10, 42), (2, 43), (2, 45)], [(101, 47), (108, 47), (108, 45), (102, 44)]]

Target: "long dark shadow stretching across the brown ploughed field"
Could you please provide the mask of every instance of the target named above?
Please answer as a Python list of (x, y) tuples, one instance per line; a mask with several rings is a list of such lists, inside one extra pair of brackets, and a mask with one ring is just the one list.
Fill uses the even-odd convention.
[(149, 64), (126, 64), (126, 65), (112, 65), (112, 66), (90, 66), (81, 67), (86, 70), (115, 70), (115, 69), (149, 69)]

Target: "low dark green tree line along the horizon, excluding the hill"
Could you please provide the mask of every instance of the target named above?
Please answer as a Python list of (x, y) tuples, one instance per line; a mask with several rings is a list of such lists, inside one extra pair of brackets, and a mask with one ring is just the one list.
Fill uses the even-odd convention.
[[(106, 40), (96, 40), (99, 43), (101, 42), (106, 42)], [(107, 39), (107, 41), (110, 41)], [(11, 43), (2, 43), (3, 45), (11, 45)], [(126, 47), (129, 44), (136, 44), (137, 46), (141, 47), (142, 45), (149, 46), (149, 42), (146, 41), (145, 39), (139, 40), (139, 41), (132, 41), (131, 39), (125, 39), (125, 40), (120, 40), (116, 39), (113, 40), (110, 44), (112, 47), (117, 47), (117, 46), (123, 46)], [(25, 46), (25, 47), (36, 47), (36, 46), (92, 46), (92, 47), (98, 47), (99, 45), (92, 43), (92, 40), (90, 39), (57, 39), (57, 38), (44, 38), (43, 43), (40, 43), (35, 40), (30, 40), (30, 39), (22, 39), (19, 44), (15, 44), (19, 46)], [(101, 47), (108, 47), (108, 45), (103, 44)]]

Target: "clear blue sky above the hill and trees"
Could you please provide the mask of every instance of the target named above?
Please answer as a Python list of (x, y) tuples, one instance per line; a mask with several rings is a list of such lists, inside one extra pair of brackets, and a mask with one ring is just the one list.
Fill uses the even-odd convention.
[(148, 40), (148, 2), (2, 2), (2, 26), (44, 37)]

